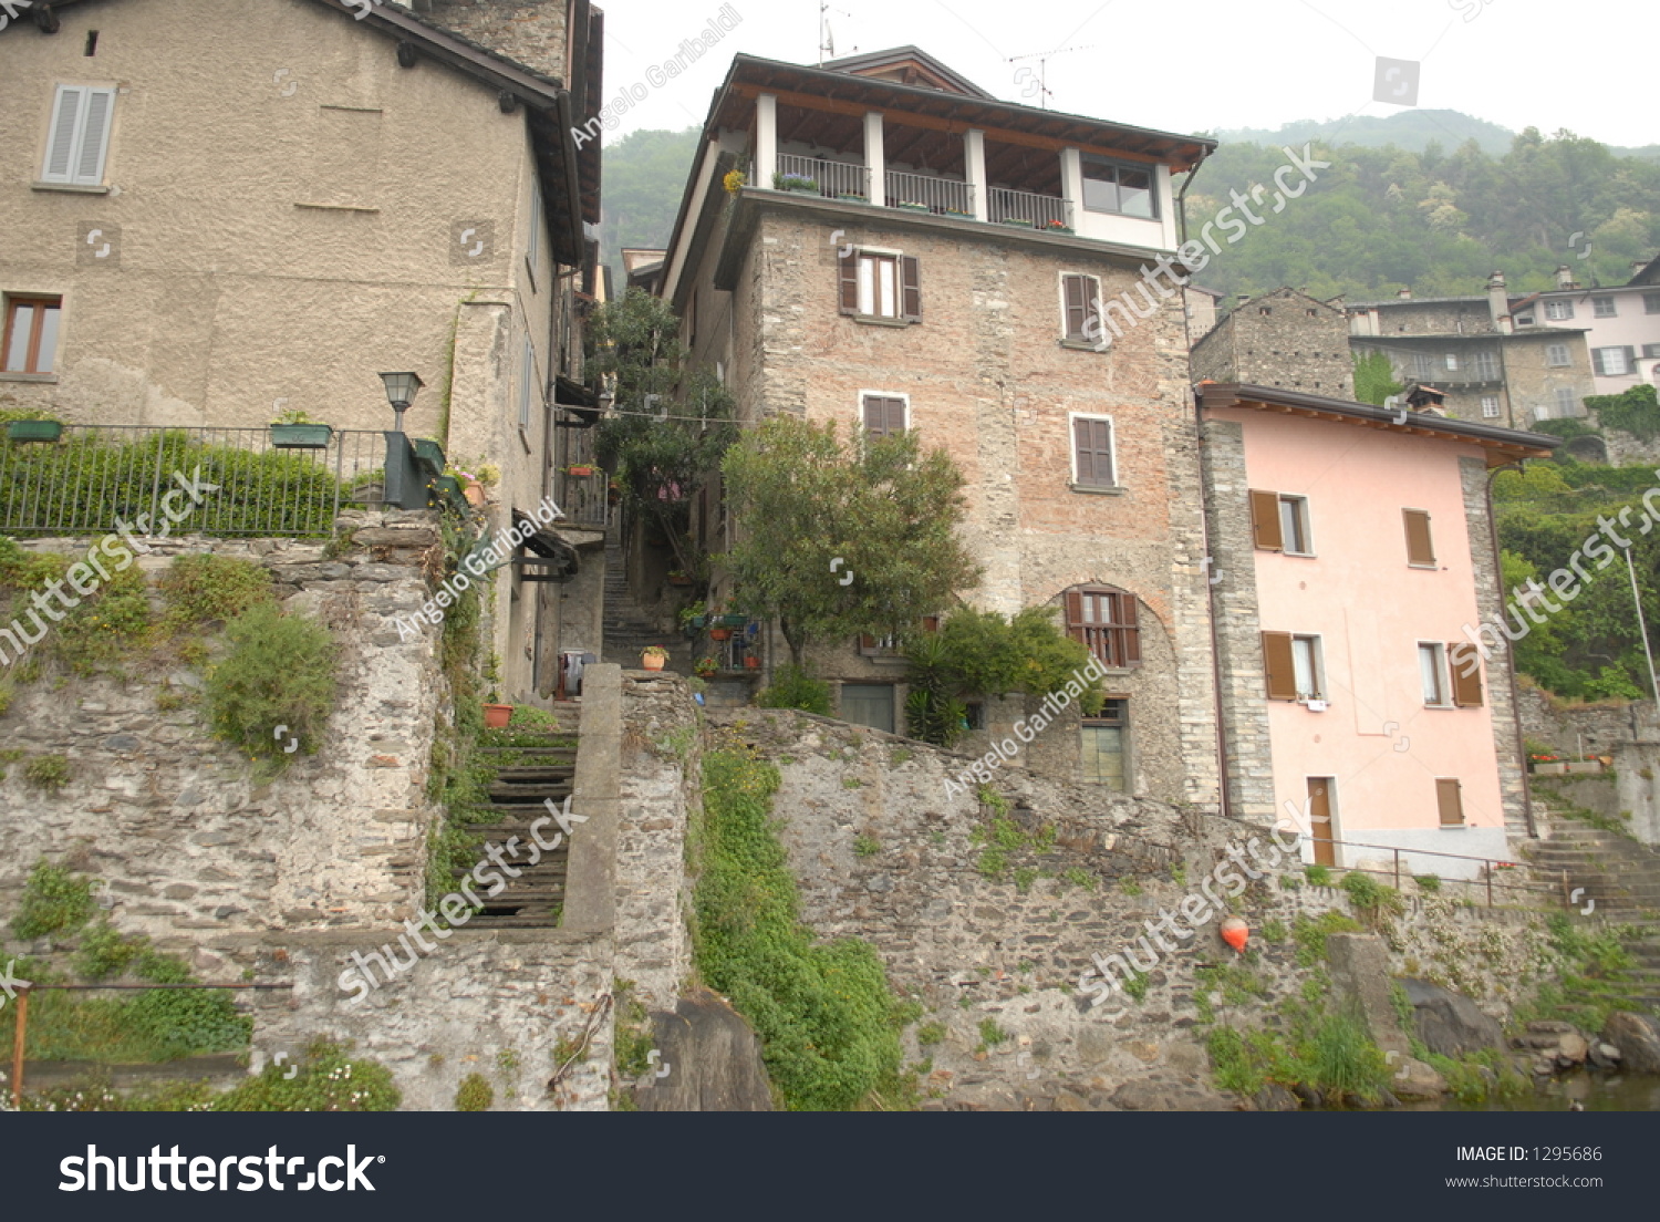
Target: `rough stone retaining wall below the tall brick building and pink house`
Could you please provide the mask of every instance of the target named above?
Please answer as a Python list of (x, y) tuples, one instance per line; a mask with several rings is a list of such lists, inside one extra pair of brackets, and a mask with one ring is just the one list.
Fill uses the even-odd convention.
[[(802, 714), (719, 711), (710, 721), (732, 724), (780, 769), (774, 814), (807, 923), (823, 938), (872, 941), (896, 990), (925, 1006), (905, 1048), (910, 1063), (930, 1063), (926, 1106), (1235, 1106), (1210, 1084), (1199, 1024), (1195, 970), (1235, 960), (1215, 920), (1160, 955), (1139, 1003), (1120, 993), (1092, 1006), (1079, 980), (1096, 955), (1135, 946), (1147, 921), (1199, 895), (1223, 848), (1252, 862), (1255, 838), (1270, 857), (1263, 829), (1003, 769), (994, 787), (1009, 820), (1028, 837), (1042, 825), (1056, 837), (1042, 852), (1028, 838), (993, 872), (981, 838), (991, 812), (973, 794), (946, 797), (959, 757)], [(1346, 893), (1303, 885), (1290, 855), (1260, 873), (1233, 903), (1253, 930), (1265, 996), (1227, 1006), (1235, 1026), (1270, 1021), (1268, 1008), (1308, 980), (1296, 946), (1267, 941), (1263, 926), (1346, 910)], [(1462, 908), (1464, 888), (1408, 897), (1391, 968), (1456, 980), (1502, 1014), (1522, 965), (1537, 961), (1532, 916)], [(1479, 888), (1471, 898), (1481, 903)], [(935, 1024), (943, 1039), (918, 1044)]]

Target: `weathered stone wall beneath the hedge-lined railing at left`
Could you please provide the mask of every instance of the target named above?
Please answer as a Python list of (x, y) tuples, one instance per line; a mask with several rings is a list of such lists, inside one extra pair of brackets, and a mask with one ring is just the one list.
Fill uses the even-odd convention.
[(48, 676), (18, 687), (0, 744), (65, 755), (71, 779), (45, 795), (27, 787), (20, 762), (0, 780), (0, 910), (15, 908), (37, 858), (73, 857), (101, 880), (123, 930), (163, 945), (413, 913), (437, 819), (425, 784), (445, 691), (433, 641), (400, 641), (393, 618), (407, 621), (428, 596), (422, 566), (438, 543), (437, 520), (349, 513), (342, 530), (355, 538), (334, 558), (312, 541), (186, 536), (156, 541), (136, 561), (156, 578), (191, 551), (254, 560), (271, 569), (286, 609), (335, 633), (340, 686), (322, 749), (276, 780), (254, 782), (249, 762), (211, 737), (194, 669), (134, 666), (128, 682)]

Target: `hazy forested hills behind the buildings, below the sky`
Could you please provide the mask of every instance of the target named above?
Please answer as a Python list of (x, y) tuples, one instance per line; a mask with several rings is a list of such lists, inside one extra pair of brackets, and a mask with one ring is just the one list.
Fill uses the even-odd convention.
[[(1403, 286), (1419, 297), (1481, 292), (1502, 269), (1512, 289), (1532, 291), (1549, 287), (1559, 264), (1582, 284), (1625, 284), (1633, 261), (1660, 252), (1660, 161), (1650, 149), (1623, 156), (1529, 128), (1494, 154), (1476, 143), (1491, 146), (1501, 131), (1492, 125), (1454, 111), (1433, 118), (1428, 126), (1403, 125), (1403, 115), (1340, 121), (1335, 146), (1310, 131), (1305, 139), (1331, 168), (1315, 171), (1301, 198), (1267, 213), (1237, 246), (1223, 246), (1200, 284), (1227, 294), (1290, 284), (1366, 301)], [(1434, 131), (1471, 139), (1449, 149)], [(1399, 143), (1371, 146), (1381, 133)], [(1197, 231), (1225, 208), (1230, 189), (1272, 184), (1288, 143), (1223, 139), (1187, 194), (1189, 226)], [(601, 239), (614, 274), (622, 246), (667, 241), (696, 148), (697, 128), (687, 128), (636, 131), (606, 149)], [(1273, 199), (1272, 186), (1265, 198)]]

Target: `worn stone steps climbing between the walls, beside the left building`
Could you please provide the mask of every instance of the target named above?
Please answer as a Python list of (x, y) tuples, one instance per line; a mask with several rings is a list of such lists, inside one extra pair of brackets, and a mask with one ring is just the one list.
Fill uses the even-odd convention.
[[(470, 824), (468, 830), (483, 837), (480, 855), (483, 855), (485, 843), (505, 847), (510, 837), (518, 837), (520, 843), (515, 845), (518, 857), (503, 857), (508, 865), (520, 872), (520, 877), (508, 878), (503, 870), (501, 875), (508, 885), (495, 897), (485, 897), (485, 888), (476, 888), (485, 910), (468, 921), (470, 926), (538, 930), (559, 923), (571, 852), (569, 837), (564, 837), (553, 852), (543, 852), (536, 865), (526, 865), (536, 845), (530, 829), (538, 819), (548, 817), (546, 802), (549, 799), (563, 809), (564, 799), (571, 794), (576, 780), (581, 709), (581, 704), (569, 701), (556, 702), (553, 706), (553, 714), (559, 719), (556, 727), (513, 729), (515, 745), (485, 749), (486, 757), (500, 760), (488, 789), (490, 814), (495, 819), (493, 822)], [(540, 832), (543, 840), (553, 840), (559, 825), (548, 822), (541, 825)], [(466, 870), (455, 870), (456, 883), (466, 873)]]

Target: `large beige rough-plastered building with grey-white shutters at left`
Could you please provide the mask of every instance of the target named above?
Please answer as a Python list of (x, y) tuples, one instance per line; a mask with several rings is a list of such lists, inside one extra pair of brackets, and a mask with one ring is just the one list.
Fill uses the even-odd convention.
[[(377, 374), (410, 370), (407, 432), (500, 468), (491, 530), (544, 496), (591, 506), (558, 472), (586, 445), (561, 425), (598, 407), (599, 154), (573, 126), (599, 110), (601, 15), (417, 10), (58, 0), (3, 22), (0, 408), (246, 447), (304, 412), (377, 467)], [(603, 515), (601, 493), (566, 543), (596, 548)], [(599, 648), (599, 568), (496, 573), (505, 694), (551, 687), (559, 644)]]

